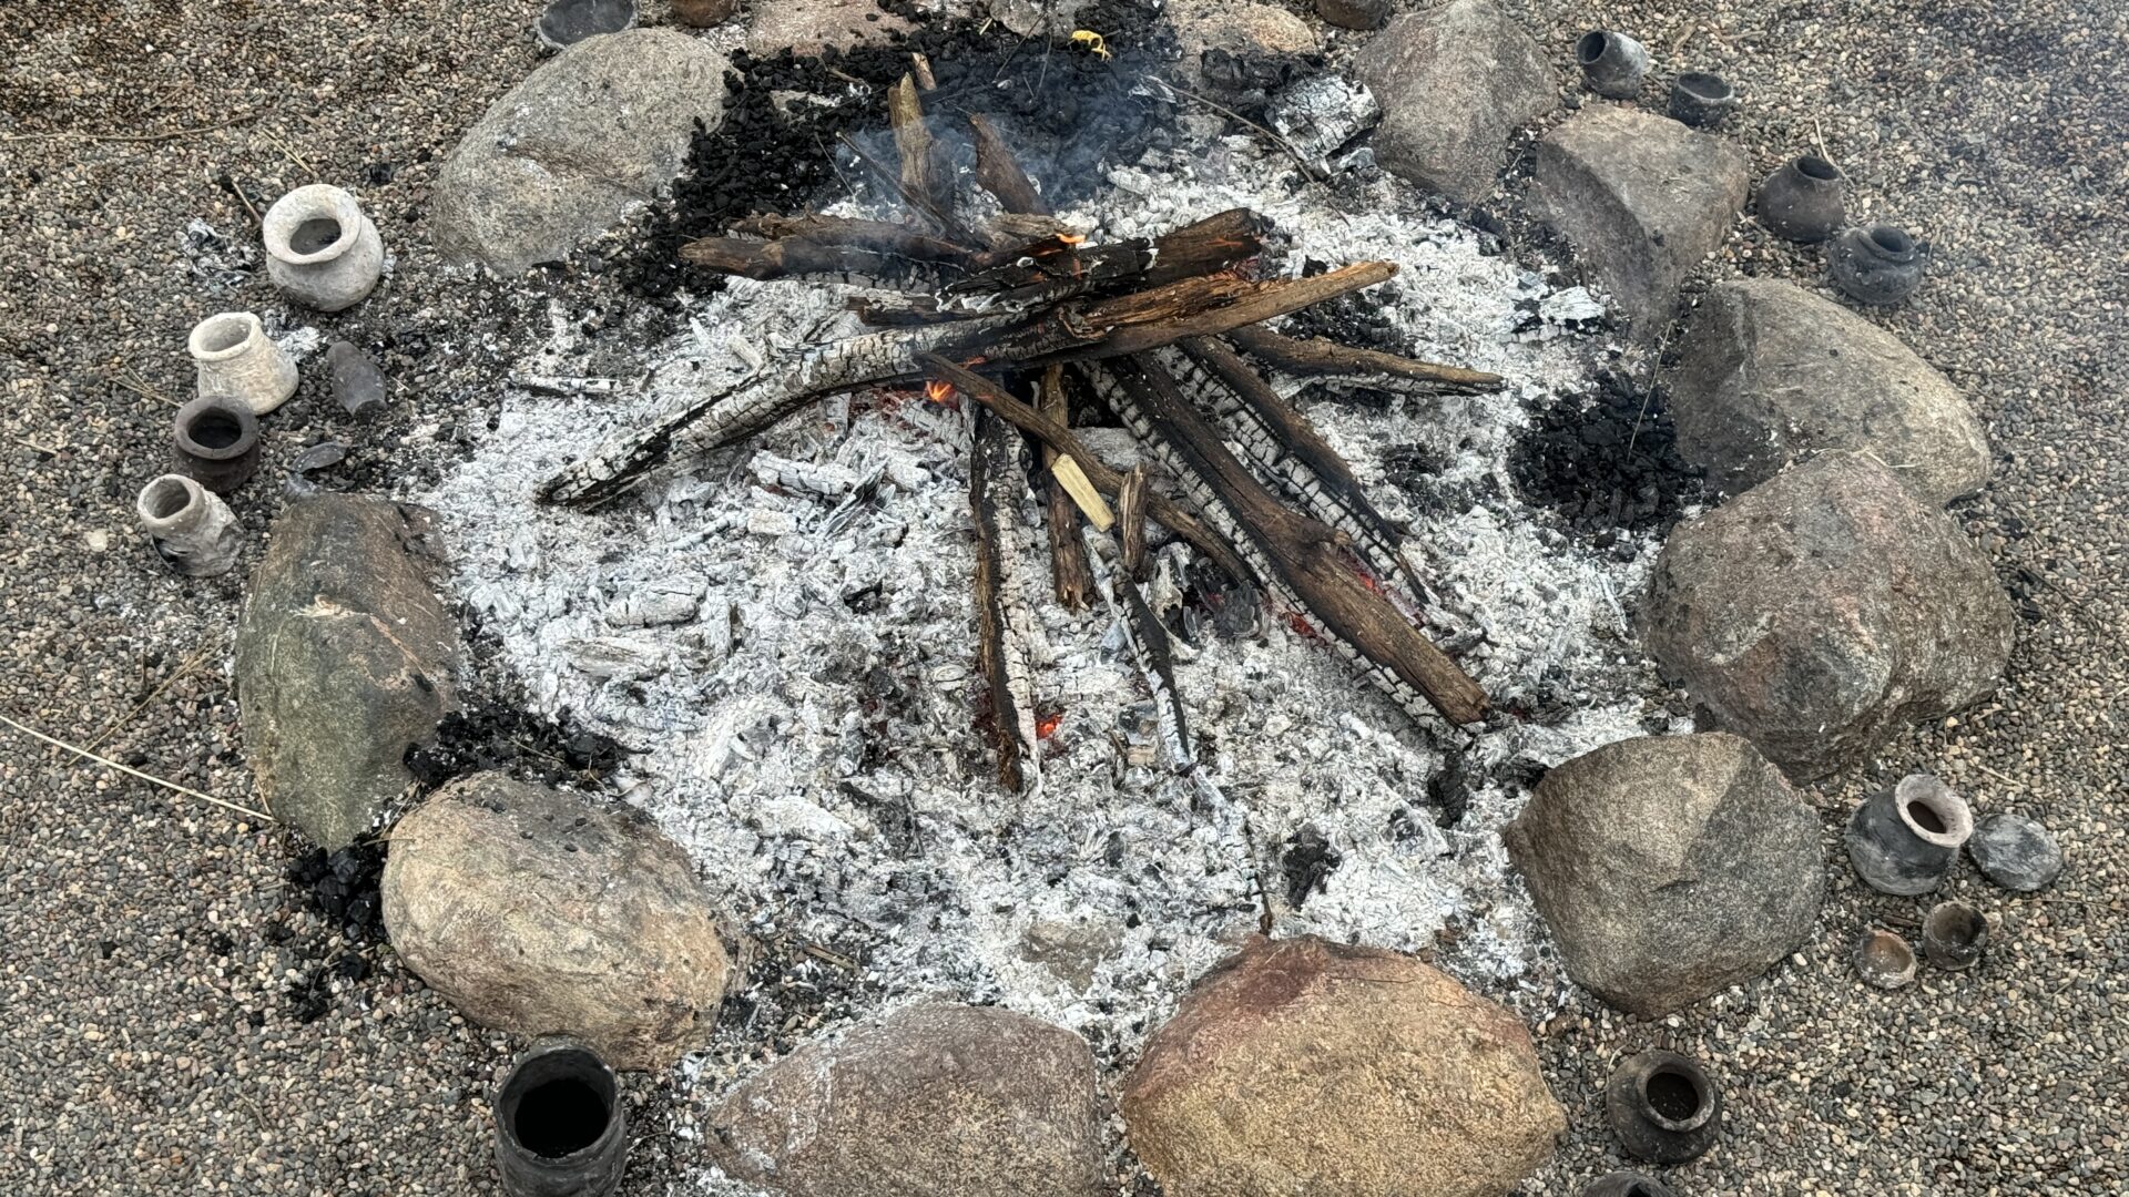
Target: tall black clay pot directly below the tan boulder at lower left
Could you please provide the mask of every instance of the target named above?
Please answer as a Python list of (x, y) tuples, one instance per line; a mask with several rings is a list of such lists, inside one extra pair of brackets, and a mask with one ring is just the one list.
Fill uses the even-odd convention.
[(496, 1163), (509, 1197), (605, 1197), (628, 1163), (613, 1069), (575, 1039), (541, 1039), (496, 1088)]

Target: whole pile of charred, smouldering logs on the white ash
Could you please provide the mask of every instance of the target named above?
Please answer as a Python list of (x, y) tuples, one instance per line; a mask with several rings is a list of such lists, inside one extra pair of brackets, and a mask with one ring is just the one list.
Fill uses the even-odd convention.
[[(1405, 560), (1401, 530), (1258, 368), (1497, 388), (1499, 375), (1262, 326), (1382, 283), (1397, 266), (1260, 277), (1269, 224), (1248, 209), (1152, 239), (1092, 245), (1052, 215), (981, 115), (969, 117), (967, 141), (988, 204), (954, 187), (915, 75), (892, 89), (890, 119), (898, 164), (847, 145), (901, 198), (905, 222), (756, 217), (741, 222), (737, 236), (700, 239), (681, 251), (722, 275), (856, 288), (867, 294), (849, 309), (879, 330), (807, 347), (737, 388), (692, 396), (577, 460), (541, 494), (607, 503), (664, 460), (735, 445), (826, 396), (920, 383), (928, 400), (960, 394), (984, 409), (969, 498), (977, 660), (1001, 784), (1020, 790), (1037, 782), (1043, 737), (1022, 645), (1028, 616), (999, 586), (1005, 556), (1028, 539), (1016, 501), (1030, 469), (1022, 434), (1039, 445), (1033, 464), (1047, 494), (1056, 598), (1077, 607), (1099, 594), (1116, 609), (1177, 773), (1194, 775), (1199, 763), (1169, 637), (1137, 588), (1150, 522), (1218, 564), (1233, 581), (1231, 601), (1262, 596), (1275, 618), (1333, 647), (1414, 718), (1480, 720), (1486, 694), (1422, 633), (1456, 626)], [(1150, 486), (1143, 466), (1118, 473), (1088, 452), (1071, 428), (1075, 396), (1113, 413), (1179, 494)]]

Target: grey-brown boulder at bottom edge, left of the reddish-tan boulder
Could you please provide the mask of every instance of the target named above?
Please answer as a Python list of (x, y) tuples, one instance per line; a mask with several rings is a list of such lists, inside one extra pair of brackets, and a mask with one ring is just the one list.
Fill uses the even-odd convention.
[(788, 1197), (1096, 1197), (1107, 1150), (1086, 1042), (926, 1003), (809, 1044), (713, 1112), (709, 1154)]

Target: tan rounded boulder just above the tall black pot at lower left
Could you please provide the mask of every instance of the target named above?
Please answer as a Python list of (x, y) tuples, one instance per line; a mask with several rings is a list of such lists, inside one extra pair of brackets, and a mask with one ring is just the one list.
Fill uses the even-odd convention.
[(575, 1035), (624, 1069), (709, 1042), (717, 909), (634, 809), (462, 777), (392, 829), (381, 897), (392, 948), (475, 1022)]

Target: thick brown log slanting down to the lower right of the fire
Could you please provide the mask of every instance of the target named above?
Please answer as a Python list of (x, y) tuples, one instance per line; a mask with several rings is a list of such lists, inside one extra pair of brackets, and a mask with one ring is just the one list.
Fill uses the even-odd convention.
[(1301, 601), (1297, 618), (1318, 624), (1322, 635), (1407, 709), (1418, 696), (1454, 724), (1475, 722), (1486, 714), (1486, 692), (1360, 579), (1337, 552), (1331, 528), (1288, 511), (1256, 483), (1158, 362), (1113, 358), (1101, 368), (1122, 386), (1150, 430), (1177, 452), (1271, 562), (1273, 577), (1267, 581)]

